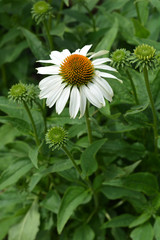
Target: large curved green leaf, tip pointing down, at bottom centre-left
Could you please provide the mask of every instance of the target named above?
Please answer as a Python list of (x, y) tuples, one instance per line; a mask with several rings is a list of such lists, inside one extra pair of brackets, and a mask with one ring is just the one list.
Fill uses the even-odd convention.
[(90, 199), (90, 193), (83, 187), (69, 187), (64, 194), (57, 219), (57, 230), (60, 234), (72, 215), (73, 211), (80, 205)]

